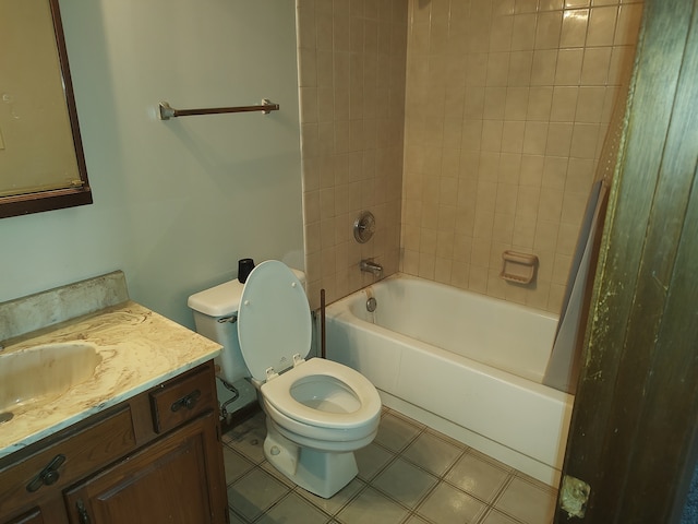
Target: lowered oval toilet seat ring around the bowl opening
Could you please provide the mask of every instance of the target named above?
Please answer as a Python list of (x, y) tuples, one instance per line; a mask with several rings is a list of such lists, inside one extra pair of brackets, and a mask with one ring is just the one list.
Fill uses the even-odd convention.
[[(316, 409), (297, 401), (291, 392), (302, 379), (316, 377), (318, 381), (334, 379), (335, 386), (345, 388), (358, 404), (352, 412), (333, 413)], [(359, 428), (381, 412), (381, 397), (373, 384), (358, 371), (341, 364), (312, 358), (280, 377), (262, 384), (262, 394), (275, 409), (288, 418), (326, 429)]]

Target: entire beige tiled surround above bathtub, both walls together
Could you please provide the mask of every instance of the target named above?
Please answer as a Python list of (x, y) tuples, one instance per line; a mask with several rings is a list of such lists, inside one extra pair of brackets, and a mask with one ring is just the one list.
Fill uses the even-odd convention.
[[(557, 311), (641, 3), (297, 0), (305, 264), (313, 307), (375, 258)], [(407, 67), (406, 67), (407, 56)], [(377, 218), (354, 242), (362, 210)], [(502, 252), (540, 259), (533, 286)]]

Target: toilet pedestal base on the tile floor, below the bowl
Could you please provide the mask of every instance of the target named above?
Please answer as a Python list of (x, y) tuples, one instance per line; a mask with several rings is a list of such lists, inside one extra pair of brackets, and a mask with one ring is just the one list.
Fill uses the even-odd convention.
[(301, 488), (325, 499), (347, 486), (359, 473), (353, 452), (326, 452), (300, 446), (284, 437), (267, 416), (264, 456)]

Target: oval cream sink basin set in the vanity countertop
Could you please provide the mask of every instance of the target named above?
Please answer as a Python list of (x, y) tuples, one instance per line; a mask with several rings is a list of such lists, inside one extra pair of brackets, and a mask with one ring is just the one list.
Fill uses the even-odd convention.
[(0, 354), (0, 418), (58, 398), (93, 377), (99, 362), (97, 347), (84, 342)]

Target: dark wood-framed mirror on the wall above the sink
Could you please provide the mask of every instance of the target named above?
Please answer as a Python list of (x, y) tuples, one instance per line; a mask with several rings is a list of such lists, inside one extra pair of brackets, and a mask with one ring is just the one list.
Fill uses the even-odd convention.
[(58, 0), (0, 0), (0, 218), (89, 203)]

